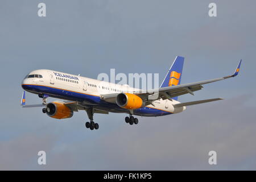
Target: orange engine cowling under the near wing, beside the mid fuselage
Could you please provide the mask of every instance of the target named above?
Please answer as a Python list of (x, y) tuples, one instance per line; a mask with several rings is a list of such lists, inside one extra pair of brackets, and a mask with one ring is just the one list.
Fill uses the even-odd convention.
[(120, 93), (116, 99), (117, 105), (125, 109), (139, 109), (144, 106), (141, 97), (131, 93)]

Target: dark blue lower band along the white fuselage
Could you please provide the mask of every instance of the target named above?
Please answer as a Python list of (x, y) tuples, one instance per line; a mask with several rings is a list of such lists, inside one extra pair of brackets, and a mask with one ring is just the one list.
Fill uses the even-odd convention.
[[(48, 94), (50, 97), (60, 98), (60, 99), (69, 100), (69, 101), (79, 101), (79, 102), (86, 101), (92, 105), (100, 105), (102, 107), (108, 107), (108, 109), (115, 109), (118, 111), (122, 111), (123, 113), (127, 113), (127, 109), (123, 109), (119, 107), (117, 104), (112, 104), (109, 102), (102, 101), (100, 99), (100, 96), (93, 96), (90, 94), (73, 92), (71, 90), (63, 90), (63, 89), (53, 88), (53, 87), (44, 86), (44, 85), (26, 85), (25, 84), (25, 85), (22, 85), (22, 88), (31, 93)], [(142, 107), (140, 109), (135, 109), (134, 114), (148, 116), (148, 117), (155, 117), (160, 115), (168, 115), (172, 113), (150, 108), (150, 107)]]

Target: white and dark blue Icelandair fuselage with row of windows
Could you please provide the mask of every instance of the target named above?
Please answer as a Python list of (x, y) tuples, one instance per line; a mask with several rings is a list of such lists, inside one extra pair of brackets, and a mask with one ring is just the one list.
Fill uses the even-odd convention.
[[(29, 76), (29, 75), (35, 75)], [(24, 90), (35, 94), (47, 94), (50, 97), (61, 98), (68, 101), (78, 101), (85, 105), (92, 105), (101, 110), (114, 113), (129, 113), (129, 110), (119, 107), (117, 104), (110, 104), (102, 101), (101, 96), (112, 93), (133, 93), (139, 89), (132, 88), (129, 85), (113, 84), (86, 78), (82, 76), (71, 75), (47, 69), (32, 71), (22, 81)], [(142, 116), (160, 116), (167, 114), (180, 113), (185, 107), (174, 107), (174, 104), (180, 102), (175, 100), (155, 100), (153, 105), (147, 105), (134, 110), (135, 115)]]

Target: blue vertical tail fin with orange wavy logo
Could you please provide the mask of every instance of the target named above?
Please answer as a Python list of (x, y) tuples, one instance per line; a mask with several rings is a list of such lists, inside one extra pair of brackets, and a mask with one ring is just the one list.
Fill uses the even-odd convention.
[[(164, 78), (164, 81), (162, 82), (160, 88), (166, 86), (180, 85), (183, 63), (184, 57), (177, 56), (174, 60), (174, 63), (172, 63), (172, 66), (169, 69), (166, 77)], [(177, 97), (174, 97), (173, 99), (177, 100)]]

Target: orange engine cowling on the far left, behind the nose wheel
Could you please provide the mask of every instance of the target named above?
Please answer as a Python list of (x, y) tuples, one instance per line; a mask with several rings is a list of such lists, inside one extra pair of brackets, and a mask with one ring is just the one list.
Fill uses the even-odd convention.
[(61, 102), (47, 104), (46, 113), (49, 117), (56, 119), (71, 118), (73, 116), (73, 111)]

